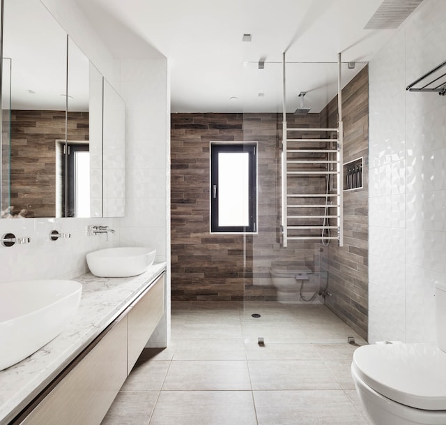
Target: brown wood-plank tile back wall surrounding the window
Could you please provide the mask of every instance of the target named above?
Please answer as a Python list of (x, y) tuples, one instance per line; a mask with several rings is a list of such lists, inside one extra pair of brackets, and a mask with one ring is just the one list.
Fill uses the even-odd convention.
[[(291, 125), (319, 126), (319, 114), (289, 114), (287, 120)], [(209, 144), (241, 140), (259, 143), (259, 232), (245, 237), (210, 234)], [(281, 141), (281, 114), (172, 114), (172, 299), (275, 300), (272, 261), (320, 267), (320, 243), (293, 241), (289, 248), (280, 244)]]

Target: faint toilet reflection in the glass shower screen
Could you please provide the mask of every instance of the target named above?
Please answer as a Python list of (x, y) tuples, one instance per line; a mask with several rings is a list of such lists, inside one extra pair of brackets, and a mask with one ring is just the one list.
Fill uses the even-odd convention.
[(312, 270), (296, 262), (275, 261), (271, 263), (270, 274), (277, 290), (277, 301), (295, 303), (299, 301), (302, 281), (309, 281)]

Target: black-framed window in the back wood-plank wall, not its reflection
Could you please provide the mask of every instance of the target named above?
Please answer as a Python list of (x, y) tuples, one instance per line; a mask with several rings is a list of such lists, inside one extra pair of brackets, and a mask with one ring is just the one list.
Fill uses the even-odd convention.
[(254, 233), (256, 143), (210, 143), (210, 231)]

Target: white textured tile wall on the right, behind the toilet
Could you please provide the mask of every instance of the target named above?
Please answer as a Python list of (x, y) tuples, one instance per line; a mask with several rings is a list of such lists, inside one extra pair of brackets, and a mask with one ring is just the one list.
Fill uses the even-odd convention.
[(425, 0), (369, 64), (371, 343), (435, 341), (434, 283), (446, 281), (446, 96), (406, 87), (445, 58), (446, 1)]

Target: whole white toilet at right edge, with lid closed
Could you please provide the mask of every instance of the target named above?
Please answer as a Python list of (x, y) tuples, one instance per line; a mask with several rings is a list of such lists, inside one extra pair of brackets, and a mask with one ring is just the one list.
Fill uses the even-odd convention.
[(353, 353), (357, 394), (374, 425), (446, 424), (446, 285), (436, 284), (437, 344), (364, 345)]

